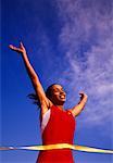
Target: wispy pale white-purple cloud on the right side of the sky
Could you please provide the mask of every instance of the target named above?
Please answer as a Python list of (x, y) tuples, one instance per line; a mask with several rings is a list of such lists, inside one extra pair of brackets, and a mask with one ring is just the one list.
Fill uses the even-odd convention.
[[(87, 118), (81, 120), (90, 124), (103, 124), (113, 116), (112, 7), (111, 0), (58, 0), (59, 18), (63, 24), (59, 46), (68, 60), (66, 72), (72, 90), (76, 86), (89, 96)], [(71, 97), (74, 97), (70, 101), (73, 102), (74, 92)]]

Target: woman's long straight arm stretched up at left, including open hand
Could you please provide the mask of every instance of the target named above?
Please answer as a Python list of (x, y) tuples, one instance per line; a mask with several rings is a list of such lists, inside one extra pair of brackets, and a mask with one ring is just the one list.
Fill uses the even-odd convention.
[(10, 45), (9, 47), (10, 47), (10, 49), (18, 52), (22, 55), (26, 71), (32, 80), (33, 87), (36, 91), (37, 98), (39, 99), (41, 114), (45, 114), (47, 112), (47, 110), (49, 109), (49, 106), (52, 104), (52, 102), (46, 97), (46, 93), (40, 84), (39, 77), (37, 76), (35, 70), (33, 68), (33, 66), (28, 60), (25, 47), (23, 46), (22, 42), (20, 43), (20, 48), (16, 48), (12, 45)]

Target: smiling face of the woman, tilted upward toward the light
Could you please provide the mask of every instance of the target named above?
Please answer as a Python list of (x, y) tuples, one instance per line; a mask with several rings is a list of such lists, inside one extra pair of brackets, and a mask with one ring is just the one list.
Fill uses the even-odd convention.
[(61, 85), (53, 85), (51, 88), (51, 101), (54, 104), (63, 105), (66, 101), (66, 93)]

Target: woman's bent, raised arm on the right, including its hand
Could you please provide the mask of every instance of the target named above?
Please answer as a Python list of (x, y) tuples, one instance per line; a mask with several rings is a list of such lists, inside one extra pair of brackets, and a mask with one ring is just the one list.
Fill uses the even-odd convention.
[(79, 95), (80, 95), (80, 101), (78, 102), (77, 105), (75, 105), (74, 108), (70, 110), (74, 116), (77, 116), (80, 114), (88, 99), (87, 95), (84, 93), (83, 91), (79, 92)]

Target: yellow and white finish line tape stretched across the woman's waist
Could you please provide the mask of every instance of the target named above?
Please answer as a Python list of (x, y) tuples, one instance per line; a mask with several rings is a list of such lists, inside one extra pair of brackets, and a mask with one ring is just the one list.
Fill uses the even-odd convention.
[(76, 145), (70, 145), (70, 143), (27, 146), (27, 147), (0, 147), (0, 151), (4, 151), (4, 150), (35, 150), (35, 151), (43, 150), (46, 151), (46, 150), (54, 150), (54, 149), (72, 149), (72, 150), (83, 151), (83, 152), (113, 154), (113, 150), (98, 149), (98, 148), (76, 146)]

